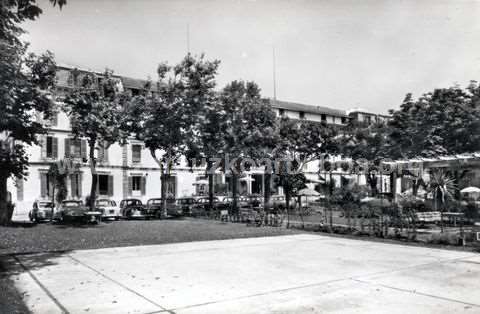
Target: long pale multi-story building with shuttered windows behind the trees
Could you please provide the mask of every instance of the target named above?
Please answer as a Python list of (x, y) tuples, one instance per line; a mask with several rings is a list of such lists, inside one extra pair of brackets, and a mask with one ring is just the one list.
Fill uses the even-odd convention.
[[(59, 66), (57, 70), (57, 93), (68, 92), (74, 88), (86, 74), (93, 74), (101, 83), (104, 74), (101, 72)], [(147, 81), (116, 75), (117, 88), (136, 95), (145, 88)], [(153, 90), (155, 92), (155, 90)], [(344, 125), (349, 116), (343, 110), (320, 106), (309, 106), (293, 102), (271, 100), (272, 107), (279, 116), (286, 115), (292, 119), (326, 122)], [(59, 105), (59, 104), (58, 104)], [(16, 210), (28, 211), (36, 199), (51, 199), (53, 182), (47, 175), (52, 163), (66, 161), (70, 167), (66, 183), (68, 198), (85, 199), (90, 193), (91, 173), (87, 159), (87, 143), (84, 139), (75, 139), (71, 133), (70, 119), (58, 106), (57, 113), (45, 121), (37, 116), (38, 121), (45, 123), (48, 132), (39, 136), (40, 145), (28, 148), (29, 175), (26, 180), (9, 182)], [(161, 180), (157, 163), (151, 157), (144, 144), (131, 139), (126, 145), (112, 144), (107, 149), (102, 145), (96, 149), (97, 158), (97, 195), (109, 197), (117, 202), (123, 198), (136, 197), (143, 201), (160, 197)], [(203, 168), (191, 169), (186, 162), (175, 167), (167, 181), (167, 195), (170, 197), (190, 196), (206, 193), (205, 174)], [(311, 182), (318, 182), (318, 163), (305, 166), (304, 173)], [(14, 184), (15, 183), (15, 184)], [(214, 176), (216, 191), (228, 193), (231, 184), (227, 176)], [(274, 193), (282, 193), (279, 187), (273, 187)], [(264, 178), (261, 169), (252, 169), (239, 182), (240, 193), (263, 193)]]

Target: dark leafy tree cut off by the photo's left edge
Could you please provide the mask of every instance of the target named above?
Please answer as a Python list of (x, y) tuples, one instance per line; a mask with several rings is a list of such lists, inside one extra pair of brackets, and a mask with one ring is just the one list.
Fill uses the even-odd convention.
[[(51, 1), (62, 6), (64, 0)], [(45, 128), (32, 112), (50, 114), (54, 88), (55, 62), (49, 52), (26, 54), (28, 45), (19, 38), (19, 26), (35, 20), (42, 10), (34, 0), (11, 0), (0, 3), (0, 224), (11, 219), (7, 204), (7, 179), (27, 174), (25, 145), (38, 144), (37, 135)]]

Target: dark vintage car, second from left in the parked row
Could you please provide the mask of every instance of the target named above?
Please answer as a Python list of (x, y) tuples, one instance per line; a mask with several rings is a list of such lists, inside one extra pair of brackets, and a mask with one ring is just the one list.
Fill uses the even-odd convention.
[(67, 200), (60, 204), (53, 217), (60, 222), (98, 223), (101, 216), (101, 212), (91, 211), (82, 201)]

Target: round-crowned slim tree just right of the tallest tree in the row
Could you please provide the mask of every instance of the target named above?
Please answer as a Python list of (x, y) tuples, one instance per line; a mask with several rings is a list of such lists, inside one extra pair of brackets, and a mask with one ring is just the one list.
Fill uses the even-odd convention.
[[(224, 171), (232, 178), (232, 210), (238, 214), (237, 184), (245, 168), (255, 166), (251, 160), (262, 158), (262, 149), (273, 149), (275, 143), (276, 116), (268, 100), (260, 96), (260, 88), (254, 82), (233, 81), (222, 90), (220, 101), (225, 117), (219, 126), (223, 143), (221, 152), (229, 157)], [(250, 162), (247, 162), (250, 159)]]

